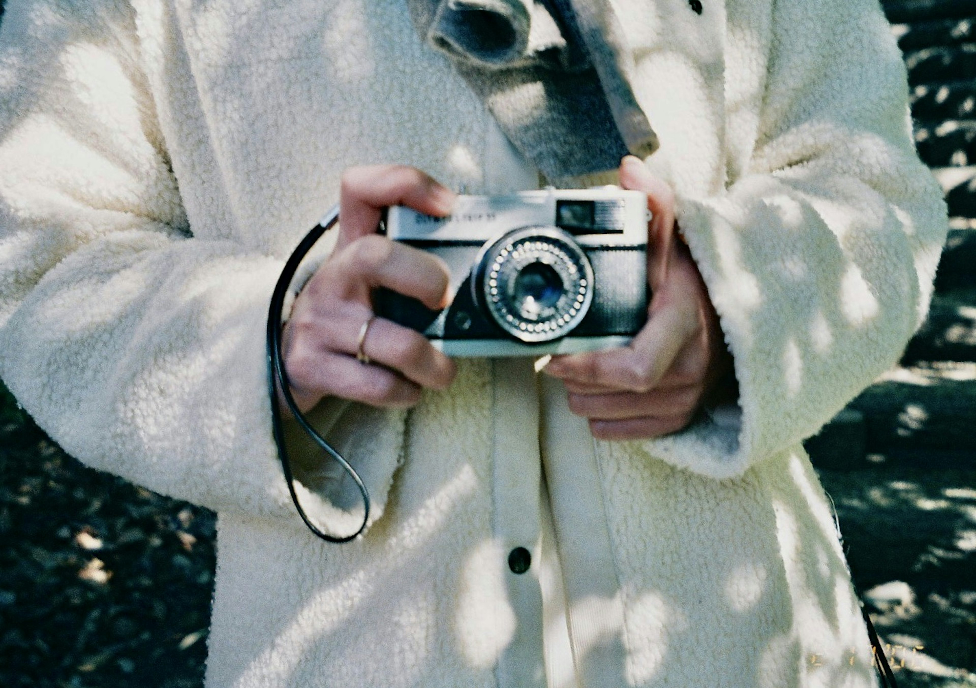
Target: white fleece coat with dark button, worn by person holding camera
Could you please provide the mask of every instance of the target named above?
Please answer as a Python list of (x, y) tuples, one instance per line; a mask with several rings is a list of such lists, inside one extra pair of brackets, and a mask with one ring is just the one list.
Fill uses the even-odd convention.
[[(614, 6), (741, 425), (597, 442), (530, 362), (464, 361), (409, 413), (325, 405), (376, 506), (329, 546), (271, 440), (284, 258), (349, 165), (536, 176), (400, 0), (9, 3), (0, 376), (88, 465), (218, 510), (209, 686), (873, 685), (799, 442), (898, 359), (945, 208), (876, 0), (691, 4)], [(302, 461), (319, 515), (354, 523)]]

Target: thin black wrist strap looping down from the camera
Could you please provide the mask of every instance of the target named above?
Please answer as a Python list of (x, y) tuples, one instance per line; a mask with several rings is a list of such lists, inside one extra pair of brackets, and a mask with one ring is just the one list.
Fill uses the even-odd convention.
[[(366, 489), (366, 485), (363, 484), (362, 478), (359, 477), (359, 473), (356, 472), (355, 468), (349, 465), (339, 452), (333, 449), (322, 435), (308, 423), (305, 415), (299, 411), (298, 405), (295, 403), (295, 397), (292, 395), (291, 385), (288, 382), (288, 374), (285, 372), (284, 360), (281, 357), (281, 333), (283, 330), (281, 313), (284, 309), (285, 297), (288, 295), (288, 287), (291, 285), (299, 265), (311, 250), (311, 247), (315, 245), (315, 242), (321, 238), (322, 234), (338, 221), (339, 205), (337, 204), (318, 224), (305, 234), (305, 238), (298, 245), (298, 248), (295, 249), (295, 252), (292, 253), (291, 257), (289, 257), (284, 269), (281, 270), (281, 276), (278, 277), (278, 283), (274, 287), (274, 292), (271, 295), (271, 304), (267, 311), (267, 392), (268, 399), (271, 403), (271, 425), (274, 431), (274, 443), (278, 448), (278, 459), (281, 461), (281, 469), (285, 473), (285, 481), (288, 483), (288, 492), (292, 496), (292, 502), (295, 504), (295, 508), (298, 510), (305, 525), (308, 526), (308, 530), (329, 543), (347, 543), (355, 539), (366, 529), (366, 523), (369, 521), (369, 491)], [(312, 523), (311, 519), (308, 518), (308, 514), (305, 513), (305, 508), (303, 508), (298, 493), (295, 490), (295, 475), (292, 472), (291, 461), (288, 459), (281, 409), (278, 405), (278, 392), (281, 393), (281, 398), (288, 404), (288, 409), (295, 417), (295, 421), (305, 430), (309, 437), (315, 440), (315, 443), (326, 454), (343, 467), (349, 477), (352, 478), (352, 482), (359, 488), (359, 494), (363, 497), (363, 520), (355, 533), (346, 536), (329, 535)]]

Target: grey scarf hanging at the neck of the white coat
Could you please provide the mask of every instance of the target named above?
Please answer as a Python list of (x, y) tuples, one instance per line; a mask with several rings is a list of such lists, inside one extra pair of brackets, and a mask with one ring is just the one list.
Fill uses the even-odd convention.
[(549, 180), (616, 170), (628, 152), (645, 157), (657, 149), (608, 0), (407, 6), (421, 38), (454, 61), (508, 139)]

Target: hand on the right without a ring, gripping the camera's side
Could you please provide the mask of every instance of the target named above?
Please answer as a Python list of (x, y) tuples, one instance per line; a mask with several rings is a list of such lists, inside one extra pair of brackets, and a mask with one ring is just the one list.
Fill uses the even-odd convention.
[(694, 419), (732, 370), (718, 316), (688, 247), (676, 236), (674, 194), (637, 158), (620, 167), (624, 188), (644, 191), (648, 225), (647, 324), (628, 346), (557, 356), (544, 368), (569, 393), (569, 408), (590, 419), (598, 439), (676, 432)]

